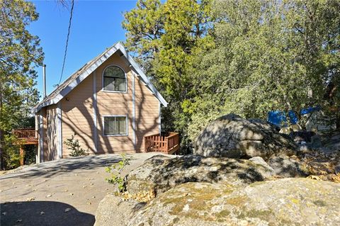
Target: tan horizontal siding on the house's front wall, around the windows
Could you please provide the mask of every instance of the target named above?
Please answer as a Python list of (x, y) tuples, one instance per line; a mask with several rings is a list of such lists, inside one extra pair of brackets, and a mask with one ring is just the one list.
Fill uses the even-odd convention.
[[(127, 74), (128, 90), (126, 93), (113, 93), (102, 91), (102, 74), (109, 64), (118, 65)], [(133, 145), (132, 131), (132, 72), (118, 54), (111, 56), (96, 69), (96, 96), (97, 96), (97, 153), (123, 153), (144, 152), (144, 137), (159, 132), (159, 101), (147, 89), (147, 86), (135, 78), (135, 116), (136, 116), (136, 149)], [(69, 156), (69, 150), (64, 141), (74, 133), (79, 144), (84, 149), (94, 153), (94, 101), (93, 80), (94, 73), (84, 79), (74, 90), (61, 100), (62, 108), (62, 155)], [(55, 109), (55, 106), (53, 106)], [(56, 113), (53, 110), (53, 113)], [(128, 115), (128, 135), (103, 136), (104, 115)], [(45, 126), (45, 121), (44, 121)], [(46, 128), (47, 130), (47, 128)], [(57, 133), (53, 134), (57, 141)], [(56, 144), (57, 142), (53, 143)], [(55, 156), (57, 156), (57, 148)], [(49, 151), (50, 152), (50, 151)]]

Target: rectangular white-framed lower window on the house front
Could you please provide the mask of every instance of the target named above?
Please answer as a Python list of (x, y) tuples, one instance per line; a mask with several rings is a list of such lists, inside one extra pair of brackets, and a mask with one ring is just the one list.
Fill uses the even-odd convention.
[(126, 116), (105, 116), (104, 135), (128, 135)]

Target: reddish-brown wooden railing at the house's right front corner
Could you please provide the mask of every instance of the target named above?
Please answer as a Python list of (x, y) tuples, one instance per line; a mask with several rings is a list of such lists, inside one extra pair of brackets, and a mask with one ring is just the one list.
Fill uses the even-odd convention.
[(144, 137), (146, 152), (164, 152), (174, 154), (179, 150), (179, 133), (170, 132), (168, 136), (159, 134)]

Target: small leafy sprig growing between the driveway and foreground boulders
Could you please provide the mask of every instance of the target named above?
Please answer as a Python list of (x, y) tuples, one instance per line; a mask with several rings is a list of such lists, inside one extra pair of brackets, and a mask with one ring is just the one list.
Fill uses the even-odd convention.
[(105, 171), (111, 174), (110, 178), (106, 178), (105, 180), (113, 185), (118, 186), (118, 193), (122, 193), (125, 189), (124, 187), (124, 178), (121, 176), (121, 171), (125, 168), (125, 166), (130, 165), (130, 157), (126, 157), (125, 154), (120, 154), (122, 158), (119, 162), (112, 164), (111, 166), (106, 167)]

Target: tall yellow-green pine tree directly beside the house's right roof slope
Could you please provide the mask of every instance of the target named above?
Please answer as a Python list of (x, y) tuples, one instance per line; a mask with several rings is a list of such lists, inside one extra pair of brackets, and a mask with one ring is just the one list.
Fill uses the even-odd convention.
[(188, 115), (181, 103), (192, 96), (193, 59), (213, 45), (209, 35), (210, 0), (140, 0), (125, 13), (125, 45), (135, 52), (169, 106), (162, 109), (162, 128), (181, 133), (182, 153), (190, 149)]

